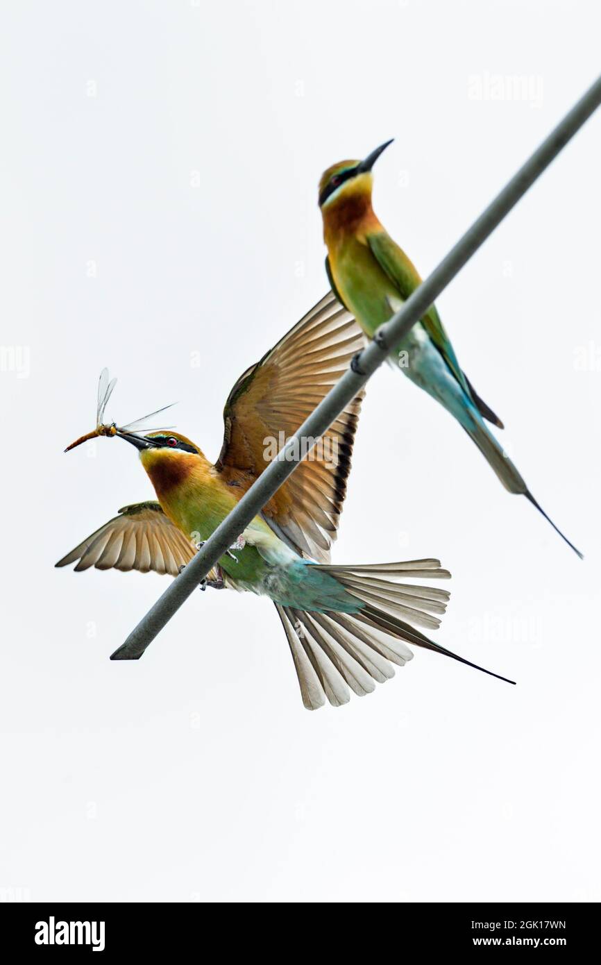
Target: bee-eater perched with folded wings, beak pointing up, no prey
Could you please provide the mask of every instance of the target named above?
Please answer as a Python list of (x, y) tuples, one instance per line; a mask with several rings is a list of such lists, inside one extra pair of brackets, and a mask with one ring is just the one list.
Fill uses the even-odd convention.
[[(392, 144), (376, 148), (363, 161), (339, 161), (319, 181), (319, 207), (328, 249), (326, 271), (341, 304), (371, 338), (402, 306), (422, 279), (371, 206), (372, 167)], [(582, 559), (582, 553), (541, 509), (503, 447), (486, 427), (503, 423), (482, 401), (459, 366), (451, 340), (434, 305), (392, 347), (389, 361), (451, 412), (511, 493), (533, 503), (554, 530)]]

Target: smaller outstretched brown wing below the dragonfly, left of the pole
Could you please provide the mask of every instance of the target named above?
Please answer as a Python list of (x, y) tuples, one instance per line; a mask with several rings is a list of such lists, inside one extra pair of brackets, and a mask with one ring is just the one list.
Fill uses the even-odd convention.
[(134, 503), (119, 510), (96, 533), (75, 546), (56, 564), (79, 571), (96, 569), (139, 569), (148, 573), (177, 576), (179, 567), (194, 556), (194, 547), (161, 510), (158, 503)]

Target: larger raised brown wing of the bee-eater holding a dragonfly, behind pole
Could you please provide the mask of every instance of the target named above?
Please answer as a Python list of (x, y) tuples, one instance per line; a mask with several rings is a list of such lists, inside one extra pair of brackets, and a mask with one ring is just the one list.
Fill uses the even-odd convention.
[[(248, 488), (339, 380), (364, 339), (332, 292), (294, 325), (233, 386), (215, 464), (231, 485)], [(363, 400), (341, 413), (263, 509), (274, 531), (303, 556), (327, 562), (336, 538)]]

